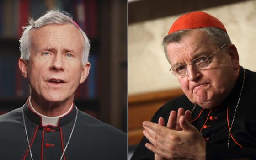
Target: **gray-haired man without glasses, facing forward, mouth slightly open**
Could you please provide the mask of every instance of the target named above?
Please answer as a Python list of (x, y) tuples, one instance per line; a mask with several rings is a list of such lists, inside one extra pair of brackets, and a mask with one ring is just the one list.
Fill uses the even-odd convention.
[(23, 107), (0, 116), (0, 159), (125, 160), (126, 133), (74, 104), (90, 70), (85, 32), (60, 11), (24, 29), (18, 63), (31, 93)]

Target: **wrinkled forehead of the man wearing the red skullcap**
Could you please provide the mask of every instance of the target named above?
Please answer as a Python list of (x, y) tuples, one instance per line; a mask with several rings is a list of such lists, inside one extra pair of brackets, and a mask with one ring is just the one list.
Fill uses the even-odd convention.
[(215, 44), (211, 43), (208, 35), (199, 30), (192, 29), (178, 43), (169, 43), (166, 48), (171, 65), (189, 63), (202, 54), (211, 52)]

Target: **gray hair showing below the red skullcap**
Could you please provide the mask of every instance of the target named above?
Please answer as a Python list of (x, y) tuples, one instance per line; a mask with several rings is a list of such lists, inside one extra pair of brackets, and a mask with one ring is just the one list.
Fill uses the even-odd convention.
[[(231, 40), (229, 35), (222, 29), (216, 27), (203, 27), (198, 28), (200, 31), (205, 32), (208, 35), (210, 42), (217, 44), (218, 46), (222, 46), (223, 44), (231, 44)], [(192, 29), (184, 29), (180, 31), (176, 31), (164, 37), (162, 41), (162, 46), (164, 47), (165, 56), (170, 63), (167, 56), (167, 45), (169, 43), (179, 43), (181, 38), (187, 35)]]

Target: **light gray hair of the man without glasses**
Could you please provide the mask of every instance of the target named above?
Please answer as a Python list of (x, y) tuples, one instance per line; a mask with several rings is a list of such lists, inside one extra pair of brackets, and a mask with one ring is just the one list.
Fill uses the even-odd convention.
[(36, 21), (34, 21), (33, 19), (30, 19), (29, 24), (23, 27), (24, 31), (22, 33), (22, 37), (20, 38), (21, 58), (24, 60), (29, 60), (30, 47), (32, 44), (32, 40), (29, 35), (29, 32), (32, 29), (38, 29), (40, 27), (43, 27), (49, 24), (67, 24), (67, 23), (73, 24), (77, 29), (79, 29), (82, 36), (84, 37), (85, 42), (84, 42), (84, 50), (82, 54), (82, 64), (84, 65), (86, 62), (88, 62), (89, 51), (90, 51), (90, 41), (88, 37), (86, 36), (85, 32), (75, 23), (72, 16), (68, 12), (59, 11), (59, 10), (48, 11), (45, 15), (41, 16)]

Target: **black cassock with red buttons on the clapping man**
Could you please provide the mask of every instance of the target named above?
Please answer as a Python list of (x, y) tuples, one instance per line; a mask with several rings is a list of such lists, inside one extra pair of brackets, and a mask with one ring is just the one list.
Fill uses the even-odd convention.
[[(219, 107), (207, 110), (197, 106), (192, 112), (191, 124), (202, 133), (206, 141), (206, 160), (239, 158), (256, 160), (256, 72), (245, 70), (245, 84), (231, 129), (229, 148), (227, 147), (229, 128), (244, 76), (242, 67), (234, 89)], [(151, 121), (157, 123), (158, 118), (163, 117), (166, 125), (170, 112), (177, 111), (180, 107), (191, 111), (194, 104), (185, 95), (180, 96), (161, 107)], [(143, 137), (132, 160), (154, 160), (154, 153), (145, 147), (146, 143), (149, 141)]]

